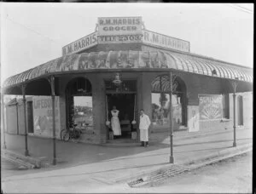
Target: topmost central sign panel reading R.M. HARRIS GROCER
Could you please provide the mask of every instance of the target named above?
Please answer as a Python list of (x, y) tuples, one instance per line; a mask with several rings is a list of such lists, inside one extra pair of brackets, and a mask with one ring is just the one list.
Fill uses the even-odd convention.
[(142, 34), (142, 17), (98, 18), (98, 35)]

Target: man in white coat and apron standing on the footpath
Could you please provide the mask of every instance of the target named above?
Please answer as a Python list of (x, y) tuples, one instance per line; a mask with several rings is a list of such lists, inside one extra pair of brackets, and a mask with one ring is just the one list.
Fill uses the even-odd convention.
[(140, 111), (141, 117), (140, 117), (140, 140), (142, 141), (142, 146), (148, 146), (148, 128), (150, 126), (150, 119), (148, 115), (144, 114), (144, 110), (142, 109)]

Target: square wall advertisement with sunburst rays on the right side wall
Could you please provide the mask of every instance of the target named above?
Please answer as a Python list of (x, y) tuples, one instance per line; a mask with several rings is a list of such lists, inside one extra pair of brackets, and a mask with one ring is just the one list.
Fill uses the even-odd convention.
[(223, 117), (222, 95), (199, 94), (200, 120), (214, 120)]

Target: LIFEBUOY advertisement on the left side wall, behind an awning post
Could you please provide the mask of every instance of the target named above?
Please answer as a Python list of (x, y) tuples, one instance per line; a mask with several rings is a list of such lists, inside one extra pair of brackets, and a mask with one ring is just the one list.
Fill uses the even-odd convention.
[[(52, 128), (52, 101), (50, 96), (33, 96), (33, 123), (34, 134), (53, 137)], [(60, 104), (59, 97), (55, 96), (55, 134), (60, 137)]]

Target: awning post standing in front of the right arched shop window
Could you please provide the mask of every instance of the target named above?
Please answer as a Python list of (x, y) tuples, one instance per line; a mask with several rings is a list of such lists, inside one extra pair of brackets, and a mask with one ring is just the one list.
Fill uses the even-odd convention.
[(171, 156), (170, 156), (170, 163), (174, 163), (173, 158), (173, 125), (172, 125), (172, 71), (170, 71), (170, 145), (171, 145)]

